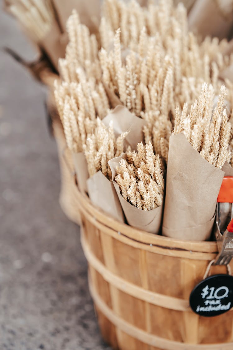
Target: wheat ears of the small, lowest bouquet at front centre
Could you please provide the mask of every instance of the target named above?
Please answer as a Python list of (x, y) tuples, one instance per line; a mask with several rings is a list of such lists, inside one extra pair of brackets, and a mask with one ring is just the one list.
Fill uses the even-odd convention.
[(159, 207), (163, 200), (164, 180), (159, 155), (155, 155), (152, 144), (145, 146), (141, 142), (138, 152), (128, 152), (126, 160), (121, 159), (116, 170), (123, 198), (134, 207), (152, 210)]

